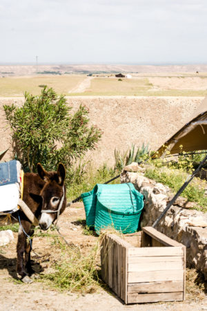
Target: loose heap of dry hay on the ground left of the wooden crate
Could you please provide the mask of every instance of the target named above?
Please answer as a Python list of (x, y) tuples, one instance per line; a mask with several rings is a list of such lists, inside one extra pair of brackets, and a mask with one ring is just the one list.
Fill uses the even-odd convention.
[(55, 237), (57, 247), (61, 248), (61, 261), (54, 266), (55, 272), (43, 274), (41, 280), (61, 290), (70, 292), (91, 293), (100, 286), (99, 241), (90, 249), (81, 252), (79, 247), (63, 245), (60, 238)]

